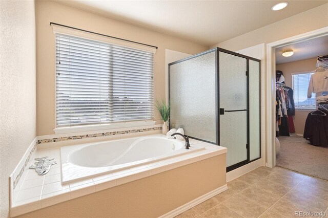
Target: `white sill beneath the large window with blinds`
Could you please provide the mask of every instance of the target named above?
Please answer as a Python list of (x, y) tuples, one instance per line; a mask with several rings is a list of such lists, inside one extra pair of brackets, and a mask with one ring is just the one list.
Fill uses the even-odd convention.
[(133, 121), (133, 122), (121, 122), (121, 123), (111, 123), (111, 124), (98, 124), (98, 125), (81, 125), (81, 126), (69, 126), (55, 128), (55, 134), (63, 133), (76, 133), (76, 132), (86, 132), (93, 130), (102, 129), (116, 129), (116, 128), (129, 128), (129, 127), (143, 127), (149, 125), (155, 125), (156, 121)]

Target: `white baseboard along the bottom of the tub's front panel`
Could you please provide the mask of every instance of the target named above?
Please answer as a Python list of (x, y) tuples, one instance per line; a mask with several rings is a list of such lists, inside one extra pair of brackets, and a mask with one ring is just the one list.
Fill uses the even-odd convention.
[(171, 218), (171, 217), (174, 217), (174, 216), (177, 216), (179, 215), (180, 213), (183, 213), (191, 208), (193, 208), (194, 206), (214, 197), (215, 195), (223, 192), (223, 191), (226, 191), (228, 190), (228, 186), (227, 184), (226, 185), (223, 185), (217, 189), (214, 189), (213, 191), (210, 191), (204, 195), (201, 195), (200, 197), (198, 197), (197, 199), (194, 199), (192, 200), (191, 202), (188, 202), (187, 204), (185, 205), (182, 205), (174, 210), (171, 210), (170, 212), (164, 214), (164, 215), (161, 215), (159, 216), (159, 218)]

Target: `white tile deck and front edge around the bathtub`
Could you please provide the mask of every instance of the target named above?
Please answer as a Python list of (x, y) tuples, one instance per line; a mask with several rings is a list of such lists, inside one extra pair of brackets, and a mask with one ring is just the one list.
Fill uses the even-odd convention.
[(204, 146), (206, 149), (67, 184), (61, 183), (60, 148), (36, 150), (35, 157), (49, 156), (55, 158), (57, 164), (53, 165), (45, 176), (38, 176), (35, 170), (26, 169), (28, 173), (22, 185), (19, 186), (17, 197), (15, 197), (11, 207), (11, 216), (17, 216), (90, 193), (150, 177), (157, 173), (226, 154), (227, 152), (226, 148), (206, 142), (191, 139), (190, 143), (191, 146), (197, 144), (197, 146)]

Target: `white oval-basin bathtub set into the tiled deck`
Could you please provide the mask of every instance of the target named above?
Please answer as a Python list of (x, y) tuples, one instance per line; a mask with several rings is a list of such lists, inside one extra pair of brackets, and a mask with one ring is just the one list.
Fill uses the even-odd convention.
[(61, 182), (147, 165), (205, 149), (164, 136), (147, 136), (60, 148)]

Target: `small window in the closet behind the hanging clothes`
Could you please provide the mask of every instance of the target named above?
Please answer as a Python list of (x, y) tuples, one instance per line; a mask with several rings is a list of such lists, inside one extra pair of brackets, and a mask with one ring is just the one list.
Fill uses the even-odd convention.
[(295, 108), (315, 108), (316, 97), (308, 98), (308, 88), (312, 73), (292, 74)]

